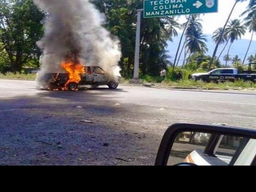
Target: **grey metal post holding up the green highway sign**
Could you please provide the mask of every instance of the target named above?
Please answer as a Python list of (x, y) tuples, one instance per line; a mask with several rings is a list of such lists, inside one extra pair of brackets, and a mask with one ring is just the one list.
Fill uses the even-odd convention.
[(136, 44), (135, 44), (135, 57), (134, 57), (134, 74), (133, 74), (133, 79), (130, 80), (131, 84), (142, 84), (142, 80), (139, 79), (141, 12), (143, 12), (143, 9), (137, 9), (137, 29), (136, 29)]

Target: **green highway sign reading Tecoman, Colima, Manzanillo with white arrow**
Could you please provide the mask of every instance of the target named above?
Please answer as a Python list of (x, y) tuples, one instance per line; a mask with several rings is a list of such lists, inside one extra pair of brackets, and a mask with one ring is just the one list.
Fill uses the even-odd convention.
[(218, 0), (145, 0), (144, 18), (218, 12)]

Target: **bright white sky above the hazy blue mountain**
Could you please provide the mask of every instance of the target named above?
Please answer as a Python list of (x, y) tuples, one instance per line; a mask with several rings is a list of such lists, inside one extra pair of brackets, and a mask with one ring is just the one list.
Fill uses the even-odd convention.
[[(201, 0), (204, 1), (204, 0)], [(219, 28), (223, 27), (226, 20), (228, 19), (228, 15), (235, 3), (235, 0), (219, 0), (219, 10), (218, 13), (207, 13), (205, 15), (200, 16), (203, 24), (203, 32), (204, 34), (213, 34), (213, 32)], [(241, 13), (246, 10), (246, 7), (249, 3), (245, 1), (243, 3), (238, 3), (236, 8), (231, 15), (231, 19), (241, 19), (243, 20), (244, 17), (240, 17)], [(179, 22), (184, 23), (186, 21), (185, 17), (182, 16), (179, 19)], [(251, 39), (252, 34), (248, 31), (245, 36), (242, 36), (242, 39)], [(256, 40), (256, 35), (254, 36), (253, 40)]]

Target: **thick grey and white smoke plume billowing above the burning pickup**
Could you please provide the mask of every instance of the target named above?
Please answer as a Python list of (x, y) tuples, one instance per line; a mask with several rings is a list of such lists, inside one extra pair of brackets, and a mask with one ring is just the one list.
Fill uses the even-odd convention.
[(41, 73), (63, 72), (61, 62), (72, 60), (114, 74), (120, 42), (102, 27), (105, 17), (89, 0), (33, 1), (47, 12), (44, 37), (37, 43), (44, 52)]

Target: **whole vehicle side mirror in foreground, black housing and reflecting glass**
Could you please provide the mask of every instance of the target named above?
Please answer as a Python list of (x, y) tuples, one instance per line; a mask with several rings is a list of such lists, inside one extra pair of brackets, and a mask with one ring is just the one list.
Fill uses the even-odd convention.
[(155, 165), (256, 165), (256, 130), (213, 124), (173, 124)]

